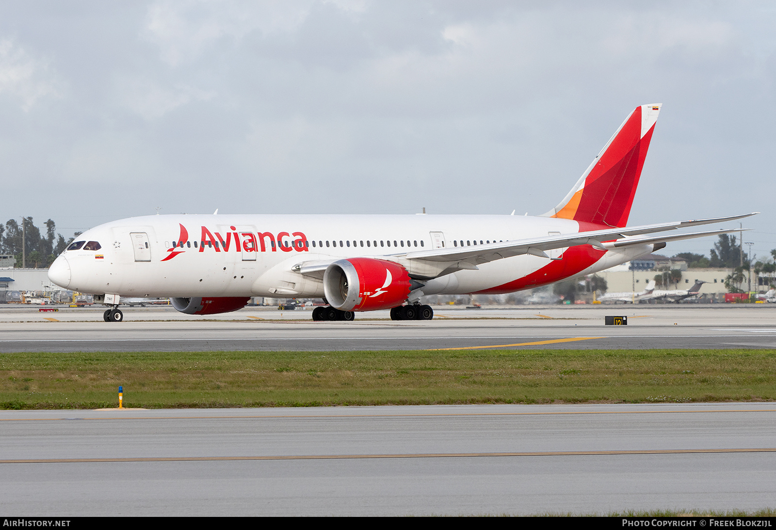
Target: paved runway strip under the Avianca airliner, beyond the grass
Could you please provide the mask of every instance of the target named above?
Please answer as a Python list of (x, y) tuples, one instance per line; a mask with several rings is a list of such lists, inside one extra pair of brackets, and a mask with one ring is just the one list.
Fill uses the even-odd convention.
[[(393, 321), (387, 311), (353, 322), (313, 322), (310, 311), (246, 308), (194, 317), (171, 307), (0, 307), (0, 352), (378, 350), (434, 348), (774, 348), (776, 304), (435, 308), (434, 320)], [(605, 326), (625, 315), (627, 326)]]

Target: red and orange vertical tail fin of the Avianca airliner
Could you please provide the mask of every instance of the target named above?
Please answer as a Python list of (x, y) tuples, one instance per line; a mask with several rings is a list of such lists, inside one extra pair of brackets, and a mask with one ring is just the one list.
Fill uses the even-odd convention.
[(569, 194), (544, 217), (624, 227), (660, 106), (636, 107)]

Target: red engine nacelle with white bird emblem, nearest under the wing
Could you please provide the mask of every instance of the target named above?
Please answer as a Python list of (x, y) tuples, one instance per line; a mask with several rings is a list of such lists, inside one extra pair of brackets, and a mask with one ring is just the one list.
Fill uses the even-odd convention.
[(341, 259), (324, 272), (326, 300), (338, 310), (390, 309), (407, 300), (411, 290), (407, 269), (383, 259)]

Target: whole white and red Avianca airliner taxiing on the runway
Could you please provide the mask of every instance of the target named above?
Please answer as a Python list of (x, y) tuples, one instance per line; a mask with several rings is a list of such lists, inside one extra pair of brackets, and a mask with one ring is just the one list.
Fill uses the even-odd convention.
[[(629, 114), (566, 197), (537, 217), (514, 215), (165, 215), (87, 230), (49, 269), (65, 289), (105, 303), (169, 297), (183, 313), (244, 307), (251, 296), (323, 297), (314, 320), (390, 309), (430, 319), (421, 296), (511, 293), (586, 275), (667, 241), (739, 229), (658, 234), (736, 220), (625, 227), (660, 104)], [(657, 235), (656, 235), (657, 234)]]

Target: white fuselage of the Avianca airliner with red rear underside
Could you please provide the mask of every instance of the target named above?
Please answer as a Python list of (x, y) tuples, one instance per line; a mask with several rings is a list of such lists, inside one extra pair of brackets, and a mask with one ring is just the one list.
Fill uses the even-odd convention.
[[(81, 293), (120, 296), (321, 297), (320, 279), (294, 272), (294, 265), (360, 256), (401, 262), (411, 251), (579, 231), (573, 220), (507, 215), (132, 217), (78, 236), (99, 243), (99, 250), (64, 251), (50, 279)], [(508, 293), (597, 272), (652, 250), (651, 244), (614, 251), (580, 245), (549, 258), (518, 255), (421, 278), (428, 280), (423, 293)]]

